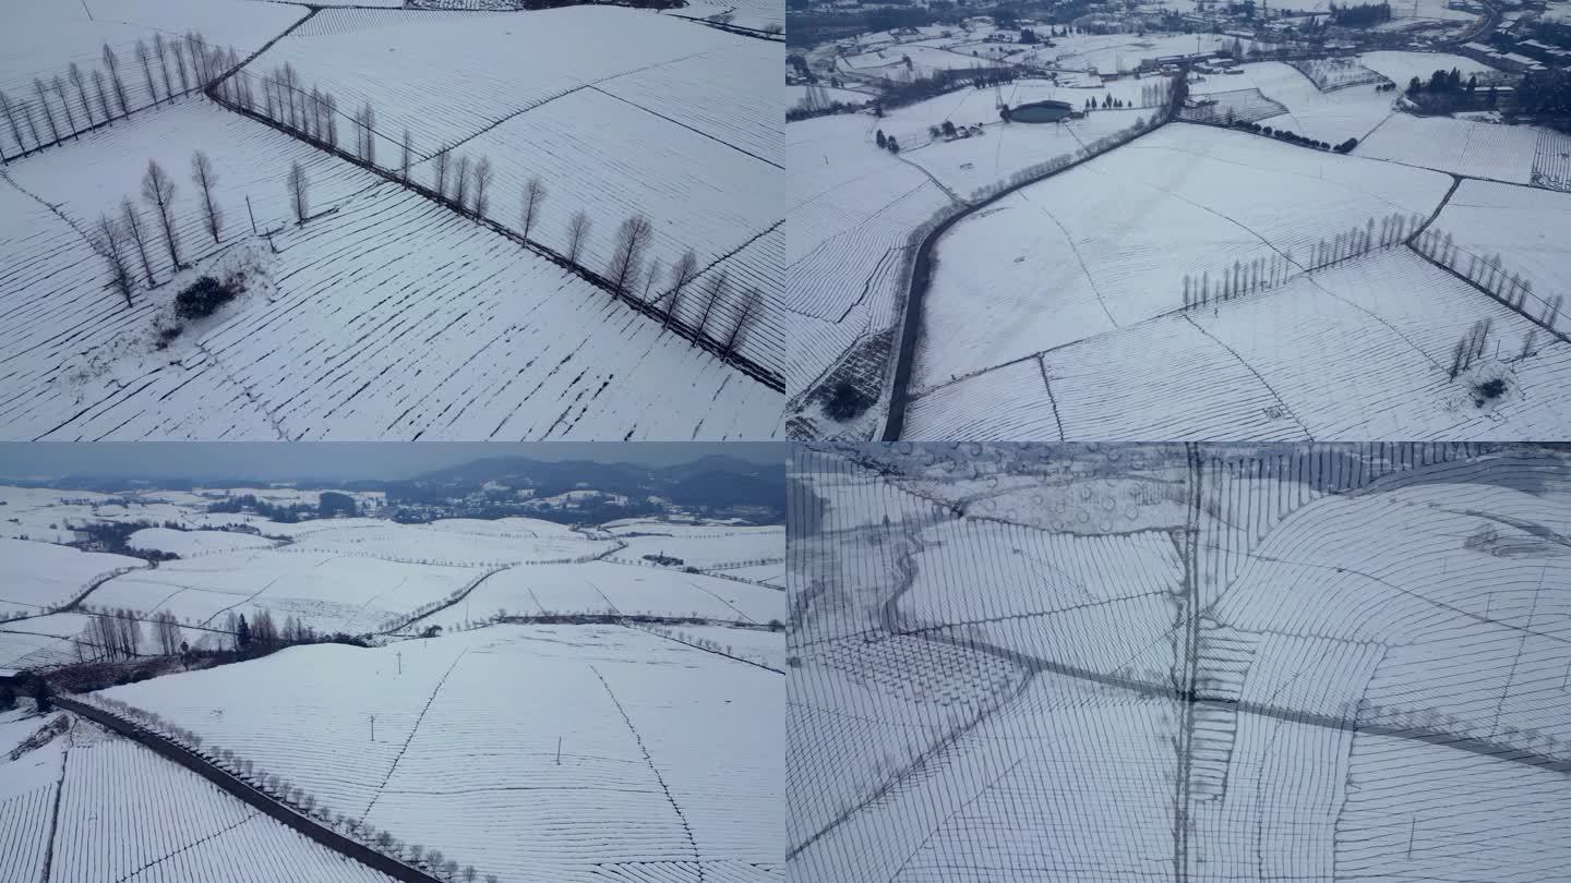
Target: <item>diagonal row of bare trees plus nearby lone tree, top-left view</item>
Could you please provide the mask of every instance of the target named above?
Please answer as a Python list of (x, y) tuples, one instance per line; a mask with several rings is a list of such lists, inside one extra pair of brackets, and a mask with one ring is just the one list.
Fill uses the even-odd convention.
[[(338, 101), (330, 91), (316, 85), (306, 90), (298, 72), (289, 64), (275, 68), (261, 83), (264, 102), (261, 105), (247, 104), (236, 99), (236, 94), (251, 91), (237, 82), (250, 82), (244, 72), (231, 77), (218, 88), (220, 96), (236, 101), (240, 107), (264, 115), (267, 119), (294, 132), (306, 141), (338, 151)], [(404, 129), (399, 138), (399, 162), (396, 168), (382, 167), (377, 162), (377, 141), (391, 141), (377, 132), (375, 108), (366, 102), (349, 119), (355, 143), (350, 151), (346, 145), (342, 152), (349, 152), (360, 162), (386, 168), (410, 187), (434, 193), (443, 204), (479, 220), (492, 218), (492, 184), (495, 170), (489, 157), (470, 157), (456, 154), (454, 148), (441, 146), (429, 157), (419, 157), (415, 151), (413, 135)], [(423, 184), (415, 178), (415, 167), (429, 159), (429, 179)], [(291, 168), (287, 189), (295, 220), (305, 223), (309, 217), (309, 193), (305, 171), (298, 163)], [(522, 190), (518, 207), (518, 233), (525, 242), (539, 245), (531, 239), (542, 226), (548, 189), (539, 176), (531, 176)], [(594, 222), (589, 212), (577, 209), (567, 218), (564, 229), (564, 248), (559, 255), (569, 262), (583, 267), (583, 251), (589, 244)], [(665, 267), (658, 259), (650, 259), (654, 245), (654, 225), (644, 215), (633, 215), (622, 222), (616, 233), (616, 242), (610, 261), (603, 272), (597, 273), (613, 297), (627, 300), (635, 308), (660, 319), (661, 330), (674, 328), (694, 346), (709, 346), (721, 357), (731, 357), (746, 341), (748, 328), (757, 321), (764, 295), (757, 288), (734, 291), (734, 284), (726, 270), (716, 270), (704, 278), (702, 284), (694, 284), (702, 275), (698, 255), (690, 248), (682, 258)], [(729, 306), (729, 310), (727, 310)], [(729, 313), (729, 321), (727, 316)]]

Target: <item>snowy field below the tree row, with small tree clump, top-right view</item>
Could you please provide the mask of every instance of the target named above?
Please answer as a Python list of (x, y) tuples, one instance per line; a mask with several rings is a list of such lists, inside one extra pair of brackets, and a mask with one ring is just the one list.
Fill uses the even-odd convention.
[[(1485, 358), (1453, 380), (1453, 347), (1486, 319)], [(911, 402), (906, 432), (1546, 438), (1565, 421), (1568, 371), (1571, 344), (1398, 248), (938, 387)], [(1494, 379), (1503, 396), (1478, 404), (1475, 387)]]

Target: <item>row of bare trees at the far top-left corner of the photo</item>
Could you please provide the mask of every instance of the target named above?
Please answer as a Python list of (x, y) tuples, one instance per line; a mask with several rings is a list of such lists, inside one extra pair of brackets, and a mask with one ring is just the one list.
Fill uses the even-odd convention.
[[(138, 39), (135, 53), (141, 68), (140, 83), (132, 79), (127, 85), (127, 77), (134, 74), (124, 69), (115, 47), (105, 42), (99, 68), (83, 72), (72, 61), (64, 75), (55, 74), (49, 80), (35, 77), (31, 94), (22, 99), (0, 91), (3, 134), (14, 145), (8, 151), (0, 143), (0, 160), (58, 145), (145, 107), (201, 90), (237, 64), (233, 47), (209, 46), (196, 31), (171, 39), (154, 35), (151, 44)], [(138, 86), (145, 94), (134, 94)]]

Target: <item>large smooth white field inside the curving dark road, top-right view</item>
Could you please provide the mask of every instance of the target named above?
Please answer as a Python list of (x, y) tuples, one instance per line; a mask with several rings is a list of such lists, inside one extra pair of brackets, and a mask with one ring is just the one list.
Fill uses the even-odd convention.
[(1170, 313), (1185, 305), (1185, 277), (1221, 278), (1233, 261), (1285, 258), (1298, 272), (1316, 240), (1392, 211), (1433, 212), (1448, 184), (1428, 171), (1167, 126), (944, 234), (914, 387)]

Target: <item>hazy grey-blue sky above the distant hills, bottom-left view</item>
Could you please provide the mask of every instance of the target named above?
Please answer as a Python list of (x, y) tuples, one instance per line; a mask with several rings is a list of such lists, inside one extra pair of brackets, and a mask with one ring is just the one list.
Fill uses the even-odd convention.
[(666, 467), (710, 454), (784, 463), (770, 442), (6, 442), (0, 478), (396, 479), (485, 457)]

